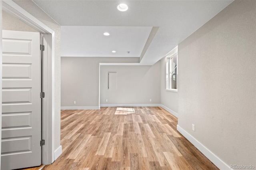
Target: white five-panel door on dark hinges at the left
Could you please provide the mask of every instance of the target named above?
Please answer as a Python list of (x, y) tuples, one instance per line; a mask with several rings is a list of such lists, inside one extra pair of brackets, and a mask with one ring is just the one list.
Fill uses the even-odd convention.
[(40, 34), (3, 30), (1, 170), (41, 165)]

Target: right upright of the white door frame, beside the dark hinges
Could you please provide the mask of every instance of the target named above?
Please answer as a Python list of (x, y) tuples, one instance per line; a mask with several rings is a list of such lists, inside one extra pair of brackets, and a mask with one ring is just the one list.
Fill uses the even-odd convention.
[[(54, 51), (54, 33), (44, 34), (43, 44), (45, 50), (43, 52), (44, 74), (42, 77), (42, 89), (47, 95), (42, 99), (44, 103), (42, 110), (42, 138), (46, 143), (51, 143), (51, 145), (42, 147), (42, 163), (51, 164), (54, 162), (54, 65), (52, 65), (54, 63), (54, 55), (52, 55)], [(48, 56), (52, 56), (52, 59)], [(52, 115), (47, 113), (52, 113)], [(51, 153), (52, 156), (49, 157), (47, 153)]]

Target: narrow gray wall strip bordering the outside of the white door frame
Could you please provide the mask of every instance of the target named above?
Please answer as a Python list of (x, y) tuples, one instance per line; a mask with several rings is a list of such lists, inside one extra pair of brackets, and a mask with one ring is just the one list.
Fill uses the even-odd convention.
[(55, 144), (54, 148), (57, 149), (60, 146), (60, 26), (48, 16), (41, 8), (39, 8), (32, 0), (13, 0), (16, 4), (29, 12), (32, 16), (40, 20), (46, 26), (51, 28), (55, 32), (54, 37), (54, 134)]

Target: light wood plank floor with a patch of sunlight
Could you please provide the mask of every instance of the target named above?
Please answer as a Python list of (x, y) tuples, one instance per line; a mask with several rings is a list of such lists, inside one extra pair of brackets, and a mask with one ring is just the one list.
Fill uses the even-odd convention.
[(43, 169), (218, 169), (176, 130), (177, 118), (164, 109), (125, 108), (61, 111), (62, 154)]

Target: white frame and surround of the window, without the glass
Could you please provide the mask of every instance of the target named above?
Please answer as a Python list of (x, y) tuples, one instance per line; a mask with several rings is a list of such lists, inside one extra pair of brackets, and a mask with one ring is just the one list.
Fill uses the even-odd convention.
[[(177, 89), (172, 89), (170, 85), (170, 59), (177, 55)], [(169, 53), (166, 54), (166, 91), (178, 92), (178, 46), (172, 49)]]

